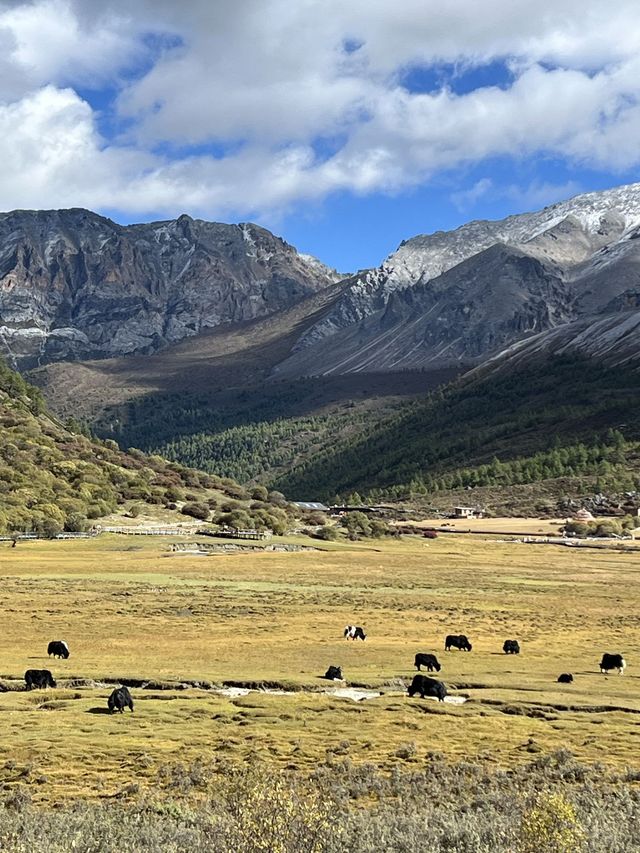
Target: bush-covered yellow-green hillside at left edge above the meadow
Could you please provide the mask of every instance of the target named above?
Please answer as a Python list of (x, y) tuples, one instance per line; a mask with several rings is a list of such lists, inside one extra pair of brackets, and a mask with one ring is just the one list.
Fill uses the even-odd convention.
[(38, 389), (0, 364), (0, 532), (82, 530), (127, 502), (168, 506), (185, 489), (203, 499), (221, 484), (73, 431), (48, 413)]

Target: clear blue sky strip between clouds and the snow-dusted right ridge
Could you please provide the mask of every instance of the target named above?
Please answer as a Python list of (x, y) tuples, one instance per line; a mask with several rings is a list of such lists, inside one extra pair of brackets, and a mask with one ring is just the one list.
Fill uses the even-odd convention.
[[(527, 164), (490, 160), (469, 169), (464, 179), (458, 174), (443, 175), (394, 195), (375, 193), (363, 198), (340, 193), (316, 207), (302, 207), (282, 220), (262, 224), (300, 251), (316, 254), (340, 271), (356, 271), (377, 266), (402, 240), (416, 234), (446, 231), (471, 219), (502, 219), (583, 191), (638, 180), (636, 168), (608, 172), (546, 158)], [(479, 183), (487, 189), (474, 199), (473, 188)], [(471, 199), (458, 198), (465, 190)]]

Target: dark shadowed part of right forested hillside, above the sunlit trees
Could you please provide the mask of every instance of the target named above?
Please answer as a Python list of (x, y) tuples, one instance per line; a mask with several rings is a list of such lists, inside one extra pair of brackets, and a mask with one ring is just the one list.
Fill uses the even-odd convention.
[[(488, 376), (473, 371), (276, 483), (292, 497), (372, 489), (405, 495), (412, 483), (422, 488), (495, 458), (526, 459), (576, 442), (592, 444), (610, 430), (637, 440), (639, 406), (637, 369), (602, 366), (579, 354), (522, 362)], [(470, 474), (457, 484), (479, 483)]]

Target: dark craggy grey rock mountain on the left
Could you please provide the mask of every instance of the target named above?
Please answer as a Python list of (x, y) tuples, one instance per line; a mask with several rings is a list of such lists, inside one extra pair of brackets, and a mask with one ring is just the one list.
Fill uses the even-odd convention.
[(22, 369), (152, 352), (288, 308), (339, 277), (256, 225), (14, 211), (0, 214), (0, 345)]

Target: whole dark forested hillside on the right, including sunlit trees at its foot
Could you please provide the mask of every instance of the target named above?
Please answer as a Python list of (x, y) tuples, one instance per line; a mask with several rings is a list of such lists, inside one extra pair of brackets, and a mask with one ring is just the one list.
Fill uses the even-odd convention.
[(397, 498), (598, 475), (636, 487), (640, 377), (564, 357), (458, 380), (277, 481), (292, 497)]

